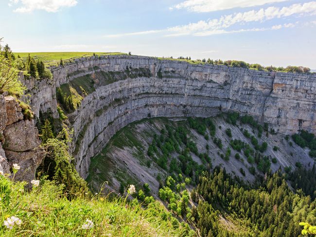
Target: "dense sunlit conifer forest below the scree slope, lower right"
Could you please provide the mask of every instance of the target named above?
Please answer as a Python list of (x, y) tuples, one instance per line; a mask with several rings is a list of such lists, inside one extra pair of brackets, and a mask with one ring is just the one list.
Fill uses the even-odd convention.
[[(201, 195), (200, 202), (194, 197), (199, 203), (197, 212), (194, 211), (194, 221), (200, 233), (203, 236), (299, 236), (299, 221), (316, 220), (316, 201), (294, 194), (281, 172), (268, 175), (259, 183), (259, 186), (245, 186), (236, 177), (227, 174), (225, 169), (219, 168), (202, 176), (196, 188), (196, 193)], [(226, 213), (230, 221), (234, 219), (243, 223), (246, 233), (241, 234), (238, 229), (229, 235), (226, 228), (221, 228), (217, 218), (219, 211), (213, 208), (215, 206)]]

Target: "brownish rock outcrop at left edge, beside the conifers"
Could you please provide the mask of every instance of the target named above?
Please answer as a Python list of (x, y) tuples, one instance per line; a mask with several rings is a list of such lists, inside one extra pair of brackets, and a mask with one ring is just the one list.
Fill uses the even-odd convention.
[(24, 120), (21, 107), (12, 96), (0, 95), (0, 171), (10, 173), (14, 163), (20, 166), (15, 178), (30, 181), (43, 159), (36, 151), (40, 145), (34, 120)]

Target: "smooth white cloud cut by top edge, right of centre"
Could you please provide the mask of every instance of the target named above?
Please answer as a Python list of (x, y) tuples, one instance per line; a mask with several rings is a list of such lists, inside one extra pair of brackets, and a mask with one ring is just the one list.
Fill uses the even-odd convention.
[(235, 7), (253, 7), (266, 3), (286, 0), (186, 0), (170, 7), (173, 9), (187, 9), (192, 12), (213, 12)]

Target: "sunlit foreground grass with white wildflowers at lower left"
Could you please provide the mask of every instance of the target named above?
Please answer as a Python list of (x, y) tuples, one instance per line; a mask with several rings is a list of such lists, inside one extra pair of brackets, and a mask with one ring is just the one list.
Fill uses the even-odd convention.
[[(68, 200), (61, 186), (41, 180), (25, 190), (25, 182), (0, 176), (0, 236), (184, 236), (184, 228), (161, 203), (145, 208), (137, 200), (85, 194)], [(3, 221), (18, 217), (20, 225), (7, 229)], [(84, 229), (86, 220), (93, 227)]]

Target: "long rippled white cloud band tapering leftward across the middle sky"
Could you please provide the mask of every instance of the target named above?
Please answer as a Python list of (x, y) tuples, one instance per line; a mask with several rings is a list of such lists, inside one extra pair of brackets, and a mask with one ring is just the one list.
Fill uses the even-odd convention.
[[(242, 32), (256, 32), (266, 30), (279, 30), (281, 28), (294, 27), (294, 23), (278, 24), (272, 27), (266, 28), (250, 28), (250, 29), (239, 29), (239, 30), (227, 30), (233, 25), (245, 25), (251, 22), (260, 22), (271, 20), (275, 18), (284, 18), (292, 15), (298, 17), (306, 15), (316, 14), (316, 1), (310, 1), (302, 4), (292, 4), (288, 7), (268, 7), (261, 8), (257, 11), (251, 10), (247, 12), (238, 12), (230, 15), (223, 15), (219, 18), (200, 20), (195, 23), (189, 23), (187, 25), (180, 25), (175, 27), (169, 27), (164, 30), (151, 30), (141, 31), (124, 34), (110, 34), (104, 37), (123, 37), (130, 35), (143, 35), (143, 34), (158, 34), (162, 33), (164, 36), (181, 36), (181, 35), (195, 35), (195, 36), (206, 36), (213, 34), (231, 34), (231, 33), (242, 33)], [(298, 23), (298, 22), (296, 22)], [(312, 24), (312, 23), (311, 23)]]

